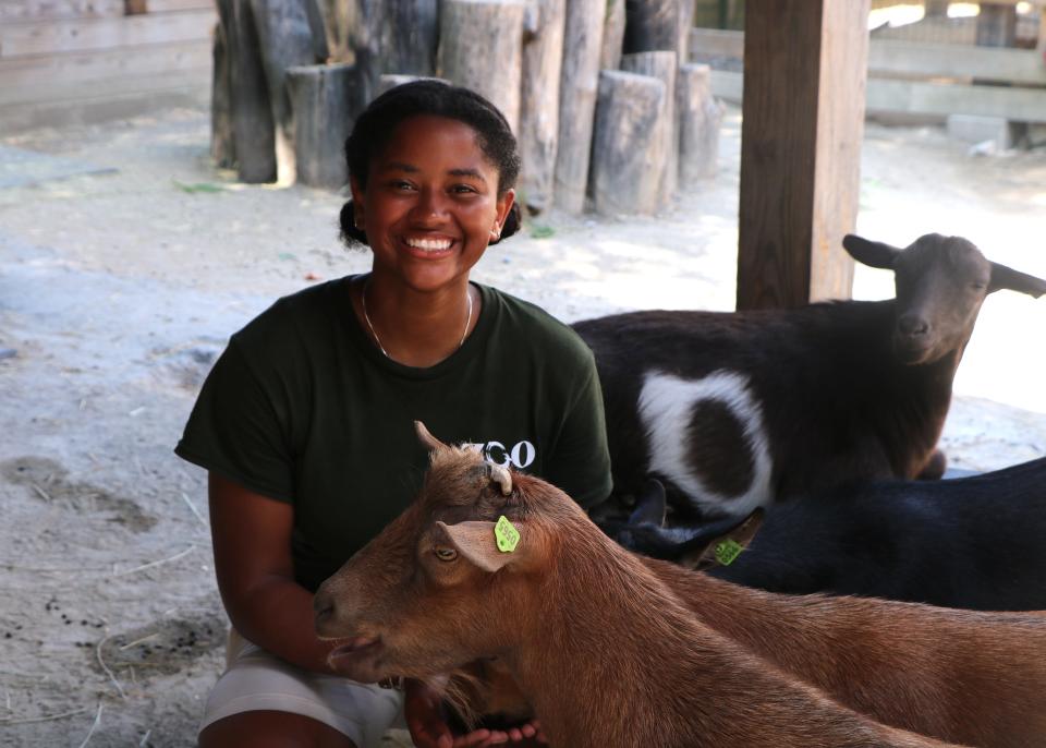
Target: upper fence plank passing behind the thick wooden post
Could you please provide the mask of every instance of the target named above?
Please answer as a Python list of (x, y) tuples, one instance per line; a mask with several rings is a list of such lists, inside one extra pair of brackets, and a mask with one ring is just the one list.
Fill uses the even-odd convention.
[[(690, 47), (696, 55), (743, 59), (744, 32), (695, 28), (691, 32)], [(1041, 55), (1031, 50), (914, 44), (892, 39), (872, 40), (868, 74), (1046, 85), (1046, 63)]]

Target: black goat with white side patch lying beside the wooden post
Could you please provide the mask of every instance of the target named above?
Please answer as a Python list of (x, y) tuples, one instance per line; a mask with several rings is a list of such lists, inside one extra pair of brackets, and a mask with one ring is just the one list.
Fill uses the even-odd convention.
[(982, 302), (1046, 281), (958, 237), (843, 246), (892, 269), (896, 298), (574, 325), (599, 370), (616, 495), (656, 476), (677, 511), (742, 517), (852, 479), (940, 475), (935, 445)]

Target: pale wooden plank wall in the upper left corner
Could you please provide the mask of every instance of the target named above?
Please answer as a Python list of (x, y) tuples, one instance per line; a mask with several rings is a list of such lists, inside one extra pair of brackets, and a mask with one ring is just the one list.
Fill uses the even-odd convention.
[(202, 101), (214, 0), (0, 1), (0, 133)]

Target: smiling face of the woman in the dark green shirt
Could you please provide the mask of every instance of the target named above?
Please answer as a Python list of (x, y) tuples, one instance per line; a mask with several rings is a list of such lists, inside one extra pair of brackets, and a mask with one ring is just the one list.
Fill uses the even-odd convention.
[(375, 275), (433, 291), (467, 276), (500, 234), (514, 192), (498, 197), (498, 170), (458, 120), (412, 117), (355, 180), (356, 222), (374, 251)]

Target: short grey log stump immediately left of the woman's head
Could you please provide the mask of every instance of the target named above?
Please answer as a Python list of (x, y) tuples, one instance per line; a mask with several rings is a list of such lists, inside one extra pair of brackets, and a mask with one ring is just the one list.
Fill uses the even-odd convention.
[(348, 63), (289, 68), (297, 181), (337, 190), (349, 179), (345, 138), (363, 110), (358, 72)]

